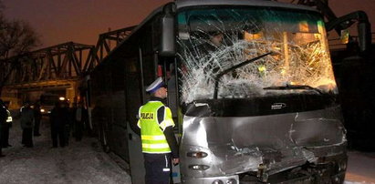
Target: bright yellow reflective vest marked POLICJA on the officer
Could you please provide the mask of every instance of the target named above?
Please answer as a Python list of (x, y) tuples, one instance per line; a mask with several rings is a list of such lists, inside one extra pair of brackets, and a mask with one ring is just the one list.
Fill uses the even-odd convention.
[[(142, 152), (170, 153), (171, 148), (158, 122), (158, 109), (164, 105), (160, 101), (150, 101), (140, 107)], [(164, 114), (164, 117), (166, 115)]]

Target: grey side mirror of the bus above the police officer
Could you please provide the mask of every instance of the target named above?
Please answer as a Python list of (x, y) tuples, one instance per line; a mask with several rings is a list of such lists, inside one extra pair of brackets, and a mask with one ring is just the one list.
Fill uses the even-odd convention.
[(159, 50), (160, 56), (175, 56), (176, 54), (176, 28), (174, 14), (176, 5), (169, 3), (163, 7), (163, 15), (161, 17), (161, 46)]

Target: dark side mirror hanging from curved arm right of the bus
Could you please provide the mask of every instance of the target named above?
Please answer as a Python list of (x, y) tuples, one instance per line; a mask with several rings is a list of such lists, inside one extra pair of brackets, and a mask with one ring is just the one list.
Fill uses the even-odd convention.
[(366, 54), (371, 46), (370, 23), (362, 22), (358, 24), (359, 51)]

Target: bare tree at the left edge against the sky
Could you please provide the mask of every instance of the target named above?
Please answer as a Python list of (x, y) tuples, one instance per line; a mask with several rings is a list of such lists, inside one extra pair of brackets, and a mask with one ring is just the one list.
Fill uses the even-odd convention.
[(39, 37), (34, 29), (24, 21), (6, 20), (3, 9), (0, 0), (0, 95), (6, 80), (18, 65), (17, 56), (39, 45)]

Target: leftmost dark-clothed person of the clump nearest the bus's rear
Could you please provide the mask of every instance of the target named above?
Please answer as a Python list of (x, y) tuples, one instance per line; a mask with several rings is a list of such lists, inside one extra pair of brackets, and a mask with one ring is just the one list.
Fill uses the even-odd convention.
[(57, 140), (60, 143), (60, 147), (64, 148), (66, 146), (65, 127), (68, 119), (68, 108), (65, 107), (63, 102), (57, 102), (49, 118), (53, 148), (57, 148)]

